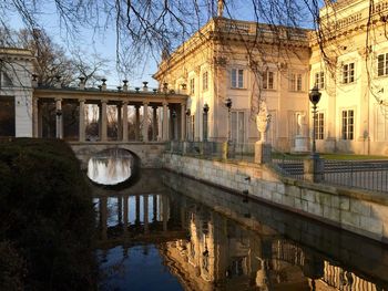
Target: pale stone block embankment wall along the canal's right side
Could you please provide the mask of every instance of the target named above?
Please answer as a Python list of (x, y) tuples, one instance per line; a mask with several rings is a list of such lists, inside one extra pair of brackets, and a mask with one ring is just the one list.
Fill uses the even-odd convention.
[(388, 197), (285, 178), (268, 165), (166, 153), (164, 168), (388, 243)]

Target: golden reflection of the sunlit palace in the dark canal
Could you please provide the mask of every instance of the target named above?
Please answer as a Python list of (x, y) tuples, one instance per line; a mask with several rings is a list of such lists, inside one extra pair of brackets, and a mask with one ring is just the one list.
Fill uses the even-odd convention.
[(190, 238), (167, 242), (163, 254), (186, 290), (384, 290), (308, 248), (205, 207), (185, 212)]

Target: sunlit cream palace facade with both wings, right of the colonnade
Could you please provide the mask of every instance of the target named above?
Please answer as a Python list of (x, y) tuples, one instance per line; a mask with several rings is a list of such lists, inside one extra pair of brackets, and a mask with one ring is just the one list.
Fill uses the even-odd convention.
[[(208, 139), (257, 141), (258, 101), (272, 116), (269, 142), (295, 149), (296, 136), (313, 137), (319, 152), (387, 155), (387, 1), (340, 0), (320, 9), (320, 30), (269, 28), (214, 18), (154, 75), (191, 96), (190, 139), (203, 139), (207, 104)], [(321, 93), (313, 124), (309, 90)], [(232, 100), (228, 118), (225, 100)]]

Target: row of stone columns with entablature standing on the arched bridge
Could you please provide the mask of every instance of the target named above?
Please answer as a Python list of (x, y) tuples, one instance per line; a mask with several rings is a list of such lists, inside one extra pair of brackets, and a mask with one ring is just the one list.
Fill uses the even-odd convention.
[[(44, 104), (54, 105), (55, 111), (55, 137), (64, 138), (67, 131), (63, 118), (65, 112), (64, 104), (73, 104), (78, 107), (79, 128), (74, 142), (109, 142), (108, 136), (109, 111), (114, 108), (114, 118), (116, 119), (116, 142), (129, 142), (129, 113), (134, 114), (132, 132), (135, 142), (167, 142), (183, 141), (186, 136), (186, 100), (187, 95), (170, 92), (149, 92), (147, 90), (95, 90), (95, 89), (62, 89), (62, 87), (37, 87), (33, 93), (33, 136), (43, 137), (43, 111)], [(98, 137), (86, 136), (88, 117), (86, 105), (98, 106)], [(150, 114), (150, 108), (151, 114)], [(73, 116), (74, 117), (74, 116)], [(78, 118), (76, 118), (78, 117)], [(151, 117), (151, 118), (150, 118)]]

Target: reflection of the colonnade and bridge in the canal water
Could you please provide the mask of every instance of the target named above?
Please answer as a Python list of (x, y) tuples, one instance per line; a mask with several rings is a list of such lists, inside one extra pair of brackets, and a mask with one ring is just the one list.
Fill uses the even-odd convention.
[(99, 245), (160, 243), (186, 237), (180, 217), (165, 194), (102, 196), (99, 207)]

